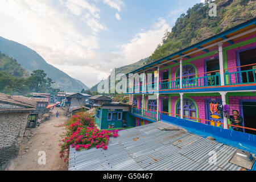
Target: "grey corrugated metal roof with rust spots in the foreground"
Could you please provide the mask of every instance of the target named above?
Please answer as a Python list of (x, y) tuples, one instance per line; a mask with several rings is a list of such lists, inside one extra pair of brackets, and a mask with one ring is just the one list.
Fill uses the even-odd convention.
[[(85, 171), (193, 171), (240, 170), (229, 163), (236, 148), (183, 130), (159, 130), (168, 123), (119, 131), (120, 137), (110, 138), (108, 150), (92, 148), (76, 151), (71, 147), (69, 170)], [(216, 152), (216, 164), (210, 164), (210, 151)]]

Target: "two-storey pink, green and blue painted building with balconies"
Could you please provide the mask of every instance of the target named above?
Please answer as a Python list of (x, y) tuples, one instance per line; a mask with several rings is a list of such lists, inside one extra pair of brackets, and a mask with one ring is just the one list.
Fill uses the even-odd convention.
[[(256, 134), (256, 19), (136, 69), (127, 78), (131, 73), (139, 75), (126, 93), (135, 119), (180, 118), (233, 130), (229, 115), (238, 110), (243, 121), (236, 128)], [(229, 115), (222, 113), (225, 105)]]

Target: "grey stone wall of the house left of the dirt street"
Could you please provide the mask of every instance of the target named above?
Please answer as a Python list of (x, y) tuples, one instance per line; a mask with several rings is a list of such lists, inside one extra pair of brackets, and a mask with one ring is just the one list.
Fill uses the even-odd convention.
[(19, 153), (28, 112), (0, 113), (0, 169)]

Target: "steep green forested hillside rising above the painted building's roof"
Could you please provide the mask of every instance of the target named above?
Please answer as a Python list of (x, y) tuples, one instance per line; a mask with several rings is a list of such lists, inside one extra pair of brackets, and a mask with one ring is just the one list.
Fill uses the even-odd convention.
[[(162, 46), (146, 61), (150, 64), (181, 49), (228, 30), (237, 24), (255, 18), (255, 2), (250, 0), (216, 0), (217, 17), (210, 17), (209, 2), (197, 3), (189, 8), (187, 14), (181, 14), (176, 20), (172, 32), (164, 35)], [(254, 4), (254, 5), (253, 5)]]

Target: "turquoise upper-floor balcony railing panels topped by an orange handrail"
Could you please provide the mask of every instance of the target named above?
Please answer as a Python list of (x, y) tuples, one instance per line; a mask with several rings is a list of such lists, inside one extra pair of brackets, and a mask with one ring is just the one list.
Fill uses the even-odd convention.
[[(252, 69), (255, 64), (243, 65), (241, 67), (234, 67), (224, 69), (224, 84), (225, 85), (242, 85), (242, 84), (256, 84), (256, 69)], [(237, 71), (241, 68), (247, 70)], [(155, 82), (144, 85), (144, 91), (152, 92), (158, 91)], [(203, 88), (214, 87), (221, 85), (220, 70), (197, 73), (195, 75), (184, 76), (182, 78), (182, 88)], [(127, 93), (142, 93), (142, 84), (133, 88), (127, 88)], [(180, 89), (180, 78), (171, 78), (168, 80), (159, 81), (159, 90)]]

